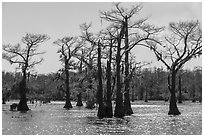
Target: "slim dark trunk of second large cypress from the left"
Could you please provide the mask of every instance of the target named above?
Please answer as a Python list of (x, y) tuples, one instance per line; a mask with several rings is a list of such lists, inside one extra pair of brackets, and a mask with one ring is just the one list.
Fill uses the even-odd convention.
[(72, 108), (72, 104), (70, 101), (70, 91), (69, 91), (69, 70), (68, 70), (68, 61), (65, 62), (65, 87), (66, 87), (66, 102), (64, 108), (70, 109)]

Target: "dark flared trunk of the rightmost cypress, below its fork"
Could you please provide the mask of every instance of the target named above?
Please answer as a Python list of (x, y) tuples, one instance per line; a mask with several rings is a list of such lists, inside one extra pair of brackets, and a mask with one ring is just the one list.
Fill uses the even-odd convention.
[(168, 115), (180, 115), (181, 113), (178, 110), (177, 107), (177, 100), (176, 100), (176, 95), (175, 95), (175, 87), (176, 87), (176, 72), (172, 71), (171, 72), (171, 86), (170, 86), (170, 104), (169, 104), (169, 112)]

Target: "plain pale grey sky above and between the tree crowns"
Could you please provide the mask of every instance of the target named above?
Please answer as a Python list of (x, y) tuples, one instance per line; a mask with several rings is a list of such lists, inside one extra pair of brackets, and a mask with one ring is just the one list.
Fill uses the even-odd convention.
[[(123, 3), (125, 7), (136, 3)], [(2, 43), (17, 44), (26, 33), (47, 34), (50, 40), (41, 44), (39, 51), (46, 51), (44, 61), (35, 66), (37, 73), (56, 72), (62, 68), (57, 54), (58, 47), (53, 42), (64, 36), (80, 35), (79, 25), (92, 22), (93, 32), (105, 28), (101, 23), (99, 11), (113, 8), (110, 2), (3, 2), (2, 3)], [(150, 17), (148, 22), (157, 26), (168, 26), (169, 22), (199, 20), (202, 22), (201, 2), (144, 2), (143, 9), (133, 18)], [(148, 67), (160, 67), (161, 62), (148, 49), (135, 47), (132, 53), (137, 61), (152, 61)], [(184, 68), (193, 69), (202, 65), (202, 57), (188, 62)], [(2, 59), (2, 70), (15, 71), (15, 65), (10, 65)]]

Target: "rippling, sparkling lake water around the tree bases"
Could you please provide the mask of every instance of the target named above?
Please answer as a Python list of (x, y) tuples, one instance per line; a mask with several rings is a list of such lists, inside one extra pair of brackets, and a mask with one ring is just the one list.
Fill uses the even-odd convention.
[[(201, 135), (201, 103), (179, 104), (182, 113), (168, 116), (168, 102), (136, 101), (134, 114), (120, 118), (97, 118), (97, 110), (76, 107), (63, 109), (63, 102), (28, 104), (30, 111), (9, 111), (8, 102), (2, 105), (3, 135)], [(85, 104), (85, 103), (84, 103)]]

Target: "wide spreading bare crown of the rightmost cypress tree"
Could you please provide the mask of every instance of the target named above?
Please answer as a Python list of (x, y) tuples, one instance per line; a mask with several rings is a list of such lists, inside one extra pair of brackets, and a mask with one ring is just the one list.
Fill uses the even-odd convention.
[[(156, 57), (169, 70), (176, 73), (190, 59), (202, 54), (202, 33), (198, 21), (170, 23), (170, 31), (172, 35), (168, 38), (165, 37), (163, 46), (155, 43), (147, 44), (154, 51)], [(163, 50), (161, 47), (164, 47)], [(170, 66), (167, 65), (168, 59), (172, 61)]]

